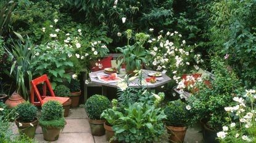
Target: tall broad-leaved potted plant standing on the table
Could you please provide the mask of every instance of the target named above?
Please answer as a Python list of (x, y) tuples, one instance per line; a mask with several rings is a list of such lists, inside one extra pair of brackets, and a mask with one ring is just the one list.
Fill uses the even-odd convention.
[(139, 70), (142, 64), (147, 64), (146, 55), (147, 50), (143, 47), (144, 43), (147, 41), (149, 35), (145, 33), (136, 33), (136, 42), (133, 45), (129, 45), (131, 39), (131, 29), (126, 30), (128, 44), (124, 47), (117, 47), (117, 50), (122, 53), (118, 56), (118, 70), (125, 64), (125, 71), (127, 74), (134, 74), (134, 70)]

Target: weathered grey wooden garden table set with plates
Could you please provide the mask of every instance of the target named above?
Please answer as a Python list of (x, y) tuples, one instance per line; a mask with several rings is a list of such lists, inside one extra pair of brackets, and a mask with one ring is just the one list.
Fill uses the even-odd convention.
[[(102, 82), (101, 80), (97, 79), (96, 76), (101, 74), (102, 72), (104, 72), (104, 70), (96, 71), (96, 72), (91, 72), (91, 73), (89, 73), (89, 78), (91, 79), (92, 83), (96, 83), (96, 84), (102, 85), (102, 95), (106, 95), (107, 87), (117, 87), (117, 82), (105, 83), (105, 82)], [(151, 73), (151, 72), (157, 72), (157, 71), (149, 71), (149, 70), (146, 70), (146, 69), (142, 69), (142, 78), (143, 79), (149, 78), (148, 74)], [(126, 74), (125, 73), (125, 69), (121, 69), (120, 70), (120, 74), (118, 74), (118, 77), (123, 79), (125, 77), (125, 74)], [(170, 77), (168, 77), (166, 74), (162, 74), (162, 77), (157, 77), (157, 82), (155, 82), (155, 83), (147, 82), (147, 85), (145, 85), (145, 86), (147, 88), (151, 88), (151, 89), (154, 90), (154, 88), (162, 86), (165, 83), (170, 82), (170, 80), (171, 80)], [(138, 78), (134, 79), (130, 83), (129, 86), (133, 87), (133, 88), (138, 88), (139, 87), (139, 85), (138, 85)]]

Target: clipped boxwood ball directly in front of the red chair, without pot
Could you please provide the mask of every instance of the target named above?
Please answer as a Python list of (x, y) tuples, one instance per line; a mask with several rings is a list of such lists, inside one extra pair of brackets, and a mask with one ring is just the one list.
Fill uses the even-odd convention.
[(40, 121), (60, 120), (64, 116), (64, 109), (59, 101), (50, 100), (42, 106)]

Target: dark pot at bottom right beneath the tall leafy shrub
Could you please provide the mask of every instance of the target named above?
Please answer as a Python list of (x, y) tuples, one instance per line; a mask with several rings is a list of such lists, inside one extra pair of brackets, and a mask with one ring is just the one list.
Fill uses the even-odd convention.
[(209, 128), (207, 124), (204, 124), (204, 142), (207, 143), (218, 143), (219, 141), (216, 139), (217, 131)]

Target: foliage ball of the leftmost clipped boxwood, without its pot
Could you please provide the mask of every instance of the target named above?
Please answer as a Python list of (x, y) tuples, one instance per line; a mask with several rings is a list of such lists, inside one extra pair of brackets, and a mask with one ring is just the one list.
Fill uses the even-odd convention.
[(38, 109), (36, 108), (36, 106), (32, 105), (30, 102), (19, 104), (16, 109), (19, 117), (19, 122), (33, 122), (36, 118), (37, 110)]

